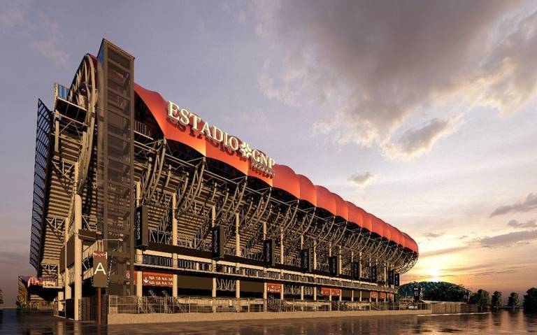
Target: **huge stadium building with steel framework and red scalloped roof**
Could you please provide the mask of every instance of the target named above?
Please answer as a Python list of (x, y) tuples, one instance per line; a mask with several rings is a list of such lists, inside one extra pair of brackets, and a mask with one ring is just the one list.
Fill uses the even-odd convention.
[(265, 311), (389, 301), (417, 261), (396, 227), (134, 83), (134, 57), (109, 41), (53, 104), (38, 101), (27, 285), (49, 283), (61, 315), (87, 318), (96, 287)]

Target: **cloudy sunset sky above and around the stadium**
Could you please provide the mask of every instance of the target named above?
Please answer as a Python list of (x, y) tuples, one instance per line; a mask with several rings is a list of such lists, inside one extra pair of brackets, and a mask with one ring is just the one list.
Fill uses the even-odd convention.
[(0, 0), (5, 306), (34, 274), (37, 100), (102, 38), (136, 83), (413, 236), (403, 283), (537, 286), (534, 1)]

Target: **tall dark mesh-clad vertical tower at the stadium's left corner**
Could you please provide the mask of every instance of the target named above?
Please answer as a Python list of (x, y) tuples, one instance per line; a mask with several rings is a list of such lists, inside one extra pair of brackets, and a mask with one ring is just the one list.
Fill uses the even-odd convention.
[(134, 278), (134, 57), (103, 39), (97, 59), (97, 225), (110, 257), (109, 294), (124, 295)]

